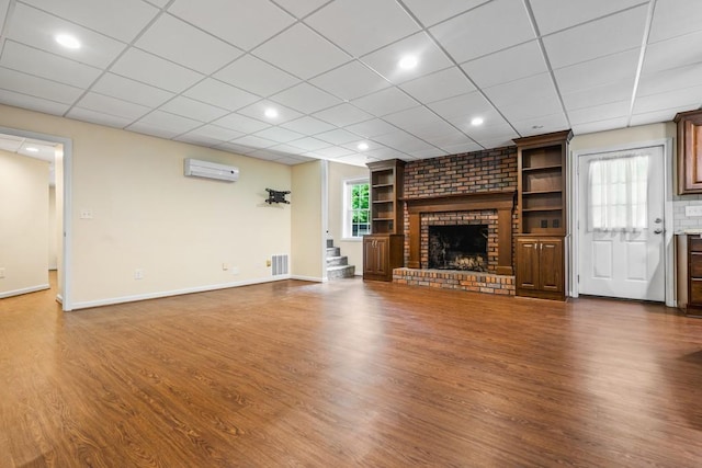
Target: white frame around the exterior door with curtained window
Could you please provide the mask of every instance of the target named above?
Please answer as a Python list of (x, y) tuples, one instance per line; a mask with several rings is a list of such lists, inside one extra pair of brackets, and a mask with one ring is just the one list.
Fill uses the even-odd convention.
[(570, 264), (569, 285), (570, 297), (579, 296), (578, 285), (578, 250), (580, 248), (580, 239), (578, 232), (578, 219), (585, 219), (585, 214), (579, 213), (579, 184), (578, 184), (578, 165), (580, 158), (584, 156), (596, 155), (610, 151), (622, 151), (626, 149), (641, 149), (652, 146), (661, 146), (664, 153), (664, 251), (663, 261), (665, 269), (665, 292), (666, 306), (675, 307), (675, 274), (673, 274), (673, 219), (672, 219), (672, 139), (664, 138), (648, 141), (635, 141), (625, 145), (616, 145), (610, 147), (588, 148), (571, 152), (570, 162), (567, 164), (568, 185), (570, 186), (568, 202), (568, 230), (570, 231), (570, 249), (568, 250), (568, 262)]

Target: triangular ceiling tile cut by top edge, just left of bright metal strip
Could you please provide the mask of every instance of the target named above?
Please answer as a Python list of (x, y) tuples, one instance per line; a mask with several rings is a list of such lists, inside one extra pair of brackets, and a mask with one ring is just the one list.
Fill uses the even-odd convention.
[(576, 24), (596, 20), (601, 16), (647, 3), (645, 0), (531, 0), (531, 8), (536, 19), (539, 32), (545, 36)]

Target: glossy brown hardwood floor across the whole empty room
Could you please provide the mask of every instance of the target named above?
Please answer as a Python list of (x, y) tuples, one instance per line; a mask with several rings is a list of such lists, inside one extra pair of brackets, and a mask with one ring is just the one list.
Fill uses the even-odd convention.
[(1, 467), (699, 467), (702, 319), (346, 279), (0, 300)]

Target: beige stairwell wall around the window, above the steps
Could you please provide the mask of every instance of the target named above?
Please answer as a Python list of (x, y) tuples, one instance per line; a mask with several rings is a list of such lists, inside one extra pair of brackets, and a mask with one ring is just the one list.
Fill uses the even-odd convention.
[(363, 274), (363, 242), (361, 239), (343, 238), (343, 196), (344, 182), (369, 176), (369, 169), (356, 165), (329, 162), (328, 175), (328, 226), (329, 236), (341, 254), (349, 258), (349, 264), (355, 265), (355, 274)]

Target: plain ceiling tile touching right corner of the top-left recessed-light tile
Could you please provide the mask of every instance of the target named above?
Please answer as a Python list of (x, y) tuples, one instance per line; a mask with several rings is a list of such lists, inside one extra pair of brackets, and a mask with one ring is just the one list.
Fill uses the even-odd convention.
[(242, 54), (241, 49), (170, 14), (161, 15), (135, 45), (205, 75), (218, 70)]

